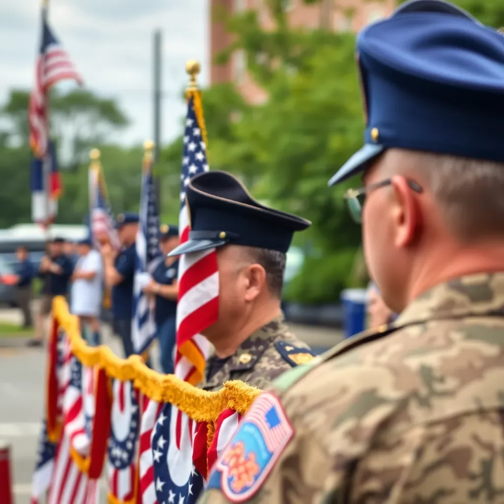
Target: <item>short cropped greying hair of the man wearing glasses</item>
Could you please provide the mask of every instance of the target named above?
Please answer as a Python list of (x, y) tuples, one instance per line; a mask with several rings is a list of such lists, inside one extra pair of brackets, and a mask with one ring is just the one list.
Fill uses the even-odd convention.
[(464, 243), (504, 238), (504, 163), (415, 152), (443, 219)]

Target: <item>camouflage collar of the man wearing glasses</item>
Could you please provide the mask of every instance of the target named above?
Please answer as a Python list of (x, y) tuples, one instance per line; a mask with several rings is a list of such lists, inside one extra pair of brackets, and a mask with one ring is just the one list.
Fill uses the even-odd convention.
[(392, 326), (492, 313), (504, 315), (504, 272), (468, 275), (436, 285), (413, 300)]

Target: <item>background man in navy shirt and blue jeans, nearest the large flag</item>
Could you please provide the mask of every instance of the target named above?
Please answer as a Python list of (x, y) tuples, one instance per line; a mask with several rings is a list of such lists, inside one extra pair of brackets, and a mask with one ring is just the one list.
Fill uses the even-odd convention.
[(179, 243), (177, 226), (163, 224), (159, 228), (159, 247), (164, 258), (154, 269), (151, 282), (144, 287), (144, 292), (154, 295), (156, 299), (156, 337), (159, 341), (161, 368), (165, 373), (173, 373), (178, 296), (178, 258), (167, 257), (167, 254)]

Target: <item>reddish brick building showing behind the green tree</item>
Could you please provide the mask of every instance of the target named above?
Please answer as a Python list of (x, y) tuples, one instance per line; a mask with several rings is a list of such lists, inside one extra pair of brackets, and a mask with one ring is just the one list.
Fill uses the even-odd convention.
[[(243, 96), (251, 103), (262, 103), (266, 93), (258, 87), (246, 72), (246, 58), (242, 51), (235, 51), (226, 65), (216, 65), (215, 55), (230, 44), (230, 36), (223, 23), (216, 21), (217, 9), (240, 12), (247, 9), (259, 11), (259, 19), (265, 29), (273, 28), (273, 21), (265, 7), (265, 0), (210, 0), (210, 82), (234, 81)], [(305, 5), (303, 0), (284, 0), (284, 8), (291, 26), (307, 28), (331, 28), (335, 31), (358, 32), (363, 26), (389, 15), (394, 0), (323, 0), (316, 5)], [(351, 15), (349, 13), (352, 13)]]

